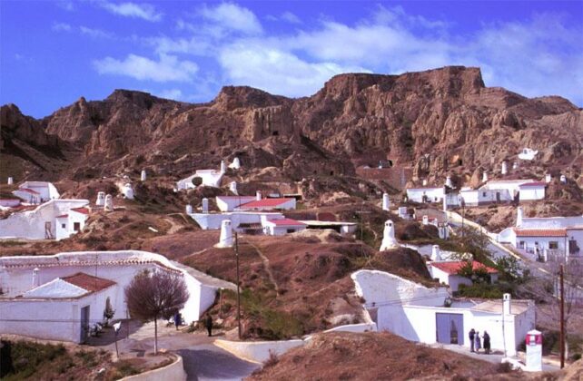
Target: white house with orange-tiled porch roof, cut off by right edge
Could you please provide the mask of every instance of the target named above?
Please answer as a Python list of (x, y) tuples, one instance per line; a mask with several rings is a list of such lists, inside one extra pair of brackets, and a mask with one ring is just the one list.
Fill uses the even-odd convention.
[(583, 255), (583, 216), (525, 218), (517, 210), (517, 224), (499, 232), (498, 241), (508, 243), (534, 259)]

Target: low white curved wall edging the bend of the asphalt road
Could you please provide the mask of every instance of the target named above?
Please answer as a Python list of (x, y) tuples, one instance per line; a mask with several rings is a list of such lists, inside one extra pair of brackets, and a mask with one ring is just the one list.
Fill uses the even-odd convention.
[(215, 340), (214, 345), (222, 347), (227, 352), (236, 357), (243, 358), (254, 363), (263, 363), (270, 357), (270, 351), (280, 356), (294, 347), (301, 347), (305, 344), (303, 340), (285, 340), (285, 341), (229, 341)]

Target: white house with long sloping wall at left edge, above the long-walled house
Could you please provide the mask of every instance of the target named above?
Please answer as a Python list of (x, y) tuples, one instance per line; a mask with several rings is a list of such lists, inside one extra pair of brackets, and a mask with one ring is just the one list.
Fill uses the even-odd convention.
[(0, 220), (0, 239), (66, 239), (83, 230), (89, 200), (49, 200)]

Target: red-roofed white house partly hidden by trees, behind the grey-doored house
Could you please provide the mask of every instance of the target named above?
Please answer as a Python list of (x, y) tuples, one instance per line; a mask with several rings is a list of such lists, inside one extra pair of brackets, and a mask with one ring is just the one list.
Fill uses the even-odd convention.
[[(466, 265), (463, 260), (440, 260), (427, 263), (427, 269), (430, 271), (431, 278), (437, 279), (441, 284), (450, 286), (451, 292), (459, 290), (459, 285), (471, 286), (473, 284), (470, 278), (462, 277), (458, 274), (459, 269)], [(489, 283), (498, 281), (498, 270), (485, 266), (477, 261), (472, 261), (472, 269), (483, 269), (489, 275)]]

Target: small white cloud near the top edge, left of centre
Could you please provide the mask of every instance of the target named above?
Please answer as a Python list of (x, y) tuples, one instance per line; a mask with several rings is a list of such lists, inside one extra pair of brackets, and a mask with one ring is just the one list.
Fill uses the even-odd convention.
[(262, 24), (252, 11), (233, 3), (222, 3), (213, 7), (204, 5), (200, 15), (221, 30), (243, 34), (261, 34), (263, 31)]

